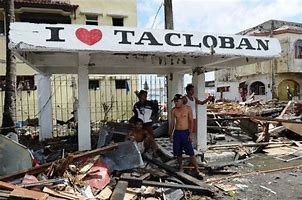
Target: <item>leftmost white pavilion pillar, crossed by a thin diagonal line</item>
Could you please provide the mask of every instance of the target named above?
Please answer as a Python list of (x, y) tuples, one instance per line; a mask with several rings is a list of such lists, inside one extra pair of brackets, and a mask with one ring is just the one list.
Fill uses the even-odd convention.
[(52, 94), (51, 94), (51, 75), (38, 74), (37, 92), (39, 107), (39, 140), (52, 138), (53, 121), (52, 121)]

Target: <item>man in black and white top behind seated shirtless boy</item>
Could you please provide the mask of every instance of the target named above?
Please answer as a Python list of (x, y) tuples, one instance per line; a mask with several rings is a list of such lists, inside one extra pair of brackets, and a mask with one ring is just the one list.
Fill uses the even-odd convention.
[(148, 131), (150, 137), (154, 138), (153, 118), (158, 114), (158, 106), (147, 100), (147, 91), (141, 90), (137, 96), (139, 101), (134, 104), (133, 112), (136, 119), (143, 121), (143, 128)]

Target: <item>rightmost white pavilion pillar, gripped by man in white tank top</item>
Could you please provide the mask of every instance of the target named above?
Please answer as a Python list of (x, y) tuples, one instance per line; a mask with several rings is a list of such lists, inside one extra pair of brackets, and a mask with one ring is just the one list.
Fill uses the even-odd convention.
[[(205, 73), (200, 69), (193, 73), (193, 85), (195, 96), (199, 100), (205, 99)], [(197, 150), (205, 152), (207, 150), (207, 105), (197, 106)]]

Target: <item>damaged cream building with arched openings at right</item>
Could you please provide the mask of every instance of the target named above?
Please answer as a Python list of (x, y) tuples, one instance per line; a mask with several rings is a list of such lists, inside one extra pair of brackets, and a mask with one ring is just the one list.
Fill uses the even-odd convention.
[(232, 101), (302, 98), (302, 24), (269, 20), (238, 34), (278, 38), (282, 53), (274, 60), (215, 72), (216, 96)]

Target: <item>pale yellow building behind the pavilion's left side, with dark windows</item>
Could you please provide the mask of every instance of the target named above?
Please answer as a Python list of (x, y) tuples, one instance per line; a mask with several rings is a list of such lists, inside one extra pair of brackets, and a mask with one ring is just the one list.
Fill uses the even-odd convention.
[[(136, 0), (15, 0), (17, 22), (85, 24), (136, 27)], [(37, 118), (35, 71), (17, 60), (16, 121)], [(54, 124), (73, 118), (77, 107), (77, 75), (52, 75)], [(141, 80), (136, 75), (90, 75), (90, 113), (92, 121), (129, 119), (137, 101), (133, 91)], [(0, 99), (3, 112), (5, 86), (5, 13), (0, 0)], [(2, 115), (0, 115), (2, 118)], [(2, 119), (0, 119), (2, 121)]]

